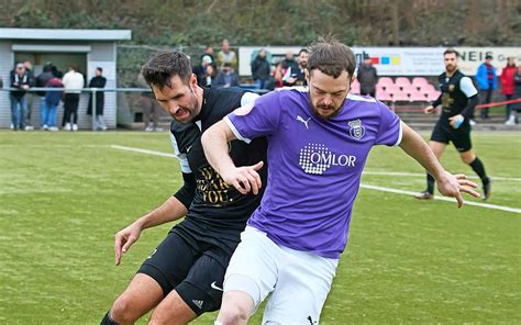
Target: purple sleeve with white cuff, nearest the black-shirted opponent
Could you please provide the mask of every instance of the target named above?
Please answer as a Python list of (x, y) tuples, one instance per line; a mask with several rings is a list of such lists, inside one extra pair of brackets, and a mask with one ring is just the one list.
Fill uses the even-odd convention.
[(280, 122), (279, 93), (262, 96), (224, 117), (236, 138), (250, 143), (253, 138), (273, 135)]

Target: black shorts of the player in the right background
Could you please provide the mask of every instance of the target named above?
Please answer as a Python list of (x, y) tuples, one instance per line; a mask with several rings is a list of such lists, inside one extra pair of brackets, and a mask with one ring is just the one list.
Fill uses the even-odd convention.
[(431, 141), (448, 144), (452, 142), (459, 153), (468, 152), (473, 148), (470, 142), (470, 124), (465, 121), (458, 128), (453, 128), (448, 122), (439, 120), (432, 131)]

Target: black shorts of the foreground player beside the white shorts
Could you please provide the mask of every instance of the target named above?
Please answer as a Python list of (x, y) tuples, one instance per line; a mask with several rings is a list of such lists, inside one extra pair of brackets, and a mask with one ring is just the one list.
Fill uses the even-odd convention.
[(217, 311), (231, 255), (214, 244), (188, 239), (189, 234), (174, 227), (137, 272), (156, 280), (165, 296), (176, 290), (197, 315)]

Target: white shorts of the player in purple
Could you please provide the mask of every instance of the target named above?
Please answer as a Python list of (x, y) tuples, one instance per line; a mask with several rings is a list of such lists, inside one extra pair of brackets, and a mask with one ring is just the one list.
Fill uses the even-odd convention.
[(263, 324), (319, 324), (337, 259), (275, 244), (247, 226), (224, 276), (224, 292), (250, 294), (256, 311), (271, 292)]

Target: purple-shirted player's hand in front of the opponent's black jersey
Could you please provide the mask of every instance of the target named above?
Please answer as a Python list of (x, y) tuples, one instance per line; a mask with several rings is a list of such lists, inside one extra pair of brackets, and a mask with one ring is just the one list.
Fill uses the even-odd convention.
[(223, 172), (222, 179), (242, 194), (246, 194), (250, 191), (254, 194), (258, 194), (258, 190), (263, 183), (257, 171), (263, 168), (263, 166), (264, 162), (259, 161), (253, 166), (235, 167), (230, 171)]

